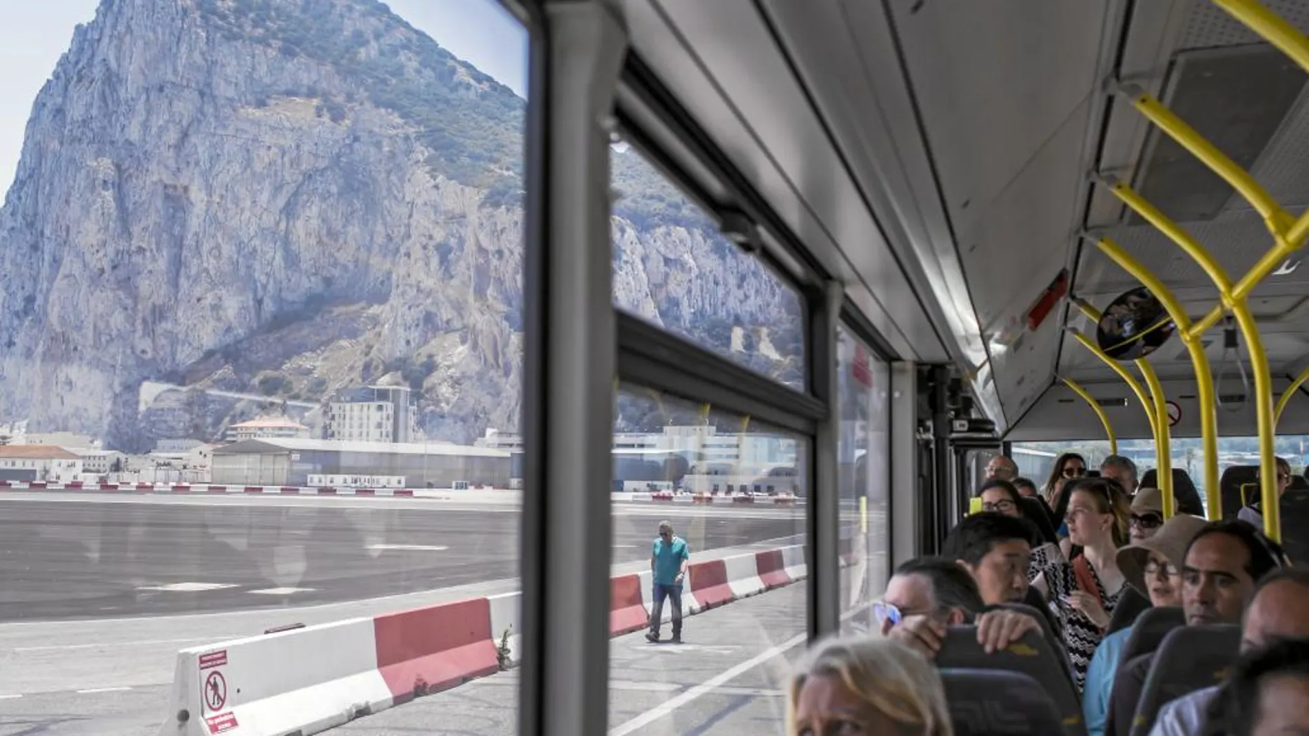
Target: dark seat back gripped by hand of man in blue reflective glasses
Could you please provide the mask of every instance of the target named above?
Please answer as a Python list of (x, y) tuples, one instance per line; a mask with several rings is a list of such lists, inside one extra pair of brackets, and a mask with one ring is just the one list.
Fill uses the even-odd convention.
[(1045, 688), (1064, 724), (1063, 732), (1081, 736), (1086, 729), (1077, 689), (1068, 678), (1066, 665), (1055, 656), (1054, 646), (1031, 631), (1005, 650), (986, 654), (978, 643), (975, 626), (950, 626), (936, 654), (936, 665), (941, 669), (1000, 669), (1026, 675)]

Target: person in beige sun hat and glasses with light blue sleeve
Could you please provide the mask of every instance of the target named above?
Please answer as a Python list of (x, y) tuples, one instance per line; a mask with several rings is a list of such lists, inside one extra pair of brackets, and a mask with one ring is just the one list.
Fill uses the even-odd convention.
[[(1165, 522), (1151, 539), (1119, 549), (1118, 569), (1127, 584), (1148, 594), (1151, 605), (1182, 605), (1182, 560), (1191, 537), (1204, 528), (1204, 523), (1199, 516), (1178, 514)], [(1118, 673), (1123, 646), (1131, 635), (1132, 626), (1109, 634), (1101, 639), (1096, 655), (1090, 658), (1081, 709), (1088, 736), (1101, 736), (1105, 732), (1114, 676)]]

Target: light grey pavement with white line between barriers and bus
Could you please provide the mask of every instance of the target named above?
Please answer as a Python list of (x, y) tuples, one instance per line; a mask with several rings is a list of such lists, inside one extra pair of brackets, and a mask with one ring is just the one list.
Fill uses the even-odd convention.
[[(683, 644), (610, 641), (609, 736), (783, 736), (785, 682), (804, 654), (805, 583), (692, 616)], [(452, 690), (329, 731), (342, 736), (513, 736), (518, 675)]]

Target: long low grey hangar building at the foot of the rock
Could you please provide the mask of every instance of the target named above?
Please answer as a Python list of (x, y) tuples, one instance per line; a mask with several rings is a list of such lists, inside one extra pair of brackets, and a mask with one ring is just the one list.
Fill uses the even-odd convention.
[(509, 488), (509, 452), (440, 442), (249, 439), (213, 450), (212, 482), (309, 485), (309, 476), (404, 478), (406, 488)]

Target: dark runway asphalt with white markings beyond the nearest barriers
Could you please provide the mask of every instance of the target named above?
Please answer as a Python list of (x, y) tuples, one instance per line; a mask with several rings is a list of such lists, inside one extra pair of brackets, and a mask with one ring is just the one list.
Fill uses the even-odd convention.
[[(665, 518), (694, 554), (801, 533), (802, 516), (617, 506), (614, 562), (644, 560)], [(513, 505), (0, 498), (0, 622), (287, 608), (517, 574)]]

